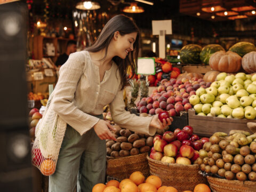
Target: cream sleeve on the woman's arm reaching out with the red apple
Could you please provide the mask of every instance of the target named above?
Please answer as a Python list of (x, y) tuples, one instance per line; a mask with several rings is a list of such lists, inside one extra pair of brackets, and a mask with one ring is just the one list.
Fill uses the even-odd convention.
[(110, 103), (110, 112), (113, 121), (123, 128), (149, 135), (156, 133), (155, 128), (149, 127), (153, 117), (139, 117), (125, 110), (123, 91), (118, 91), (115, 99)]

